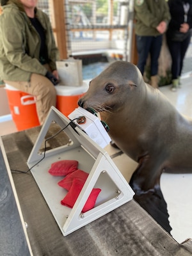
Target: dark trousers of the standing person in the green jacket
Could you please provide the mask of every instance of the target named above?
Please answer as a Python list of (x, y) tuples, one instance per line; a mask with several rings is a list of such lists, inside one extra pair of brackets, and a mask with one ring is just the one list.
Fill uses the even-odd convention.
[(158, 59), (161, 51), (163, 36), (138, 36), (136, 35), (136, 46), (138, 51), (138, 68), (144, 73), (148, 53), (150, 53), (150, 75), (156, 76), (158, 72)]

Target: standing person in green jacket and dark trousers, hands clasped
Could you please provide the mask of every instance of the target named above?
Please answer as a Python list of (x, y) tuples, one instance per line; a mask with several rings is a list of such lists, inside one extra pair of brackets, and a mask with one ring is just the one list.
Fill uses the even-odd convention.
[(170, 20), (168, 4), (165, 0), (134, 0), (137, 66), (143, 75), (150, 53), (150, 79), (154, 88), (158, 87), (158, 59)]

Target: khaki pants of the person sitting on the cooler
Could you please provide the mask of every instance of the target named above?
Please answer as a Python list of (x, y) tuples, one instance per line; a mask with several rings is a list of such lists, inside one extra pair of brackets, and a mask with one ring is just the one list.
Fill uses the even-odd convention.
[(31, 81), (4, 81), (22, 92), (36, 97), (36, 113), (40, 124), (44, 124), (45, 118), (51, 106), (56, 106), (56, 90), (54, 85), (45, 76), (32, 74)]

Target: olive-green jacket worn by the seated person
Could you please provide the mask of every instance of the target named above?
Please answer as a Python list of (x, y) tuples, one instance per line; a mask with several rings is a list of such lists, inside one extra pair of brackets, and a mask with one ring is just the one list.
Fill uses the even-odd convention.
[[(0, 15), (0, 79), (30, 81), (32, 73), (45, 76), (47, 70), (38, 61), (40, 36), (21, 6), (9, 2), (11, 3), (3, 6), (3, 13)], [(55, 70), (59, 54), (51, 22), (38, 9), (36, 17), (45, 29), (49, 66), (51, 70)]]

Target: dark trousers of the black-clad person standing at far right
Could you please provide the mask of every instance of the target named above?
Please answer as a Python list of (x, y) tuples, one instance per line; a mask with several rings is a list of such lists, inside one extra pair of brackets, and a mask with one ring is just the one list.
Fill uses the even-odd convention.
[(166, 38), (166, 42), (172, 56), (172, 79), (177, 79), (182, 72), (183, 60), (190, 40), (191, 35), (189, 35), (183, 42), (172, 41), (168, 36)]

